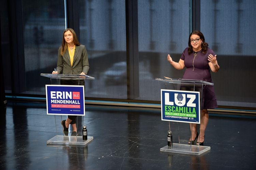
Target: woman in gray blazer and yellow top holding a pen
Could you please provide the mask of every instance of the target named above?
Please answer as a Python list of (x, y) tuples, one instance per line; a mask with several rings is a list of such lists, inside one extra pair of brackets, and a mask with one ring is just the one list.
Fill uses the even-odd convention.
[[(81, 45), (76, 37), (76, 33), (73, 29), (68, 28), (63, 32), (62, 46), (58, 50), (58, 62), (56, 71), (52, 71), (52, 74), (81, 74), (85, 75), (89, 71), (89, 61), (87, 56), (87, 50), (84, 45)], [(78, 84), (79, 83), (79, 84)], [(65, 85), (84, 85), (84, 81), (61, 81), (61, 84)], [(69, 133), (69, 124), (72, 125), (72, 136), (76, 136), (76, 117), (68, 115), (66, 120), (61, 122), (64, 135)]]

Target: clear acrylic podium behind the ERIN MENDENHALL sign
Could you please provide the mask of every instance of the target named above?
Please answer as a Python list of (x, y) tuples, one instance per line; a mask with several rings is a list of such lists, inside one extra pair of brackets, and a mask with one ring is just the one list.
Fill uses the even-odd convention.
[[(85, 80), (95, 79), (89, 75), (76, 75), (76, 74), (41, 74), (43, 77), (50, 78), (51, 85), (60, 85), (60, 81), (74, 81), (77, 84), (73, 85), (84, 85)], [(62, 117), (65, 117), (62, 119)], [(47, 145), (86, 145), (89, 143), (93, 137), (88, 136), (87, 140), (82, 140), (82, 125), (84, 125), (84, 116), (77, 116), (76, 125), (77, 125), (77, 135), (71, 136), (72, 126), (69, 126), (69, 135), (64, 136), (61, 121), (66, 119), (66, 115), (54, 115), (55, 126), (56, 126), (56, 136), (52, 137), (47, 141)]]

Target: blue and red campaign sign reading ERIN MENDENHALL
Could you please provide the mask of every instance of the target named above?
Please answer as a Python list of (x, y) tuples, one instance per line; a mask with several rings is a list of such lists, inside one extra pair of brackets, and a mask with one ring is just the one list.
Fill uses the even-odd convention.
[(85, 115), (84, 86), (45, 85), (47, 115)]

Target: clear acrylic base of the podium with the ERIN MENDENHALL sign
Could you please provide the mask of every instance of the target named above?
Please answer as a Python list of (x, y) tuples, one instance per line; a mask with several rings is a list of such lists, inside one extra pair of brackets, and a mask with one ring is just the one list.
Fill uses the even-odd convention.
[(82, 140), (82, 136), (56, 135), (47, 141), (47, 145), (86, 145), (92, 139), (92, 136), (88, 136), (87, 140)]

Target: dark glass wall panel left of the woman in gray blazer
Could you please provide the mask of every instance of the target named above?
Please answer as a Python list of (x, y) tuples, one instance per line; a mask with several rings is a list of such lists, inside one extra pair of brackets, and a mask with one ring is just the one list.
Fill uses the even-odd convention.
[(22, 94), (45, 95), (48, 79), (40, 73), (51, 73), (57, 65), (58, 48), (65, 30), (63, 0), (22, 0), (24, 25), (25, 90)]

